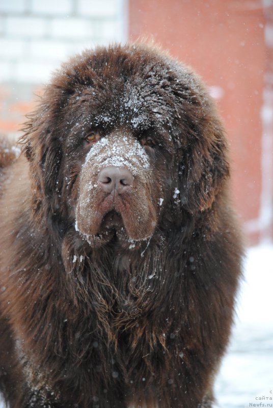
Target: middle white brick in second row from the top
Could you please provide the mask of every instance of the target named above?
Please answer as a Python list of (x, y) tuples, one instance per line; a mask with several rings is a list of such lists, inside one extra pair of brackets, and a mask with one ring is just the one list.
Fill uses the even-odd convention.
[(92, 22), (81, 18), (54, 18), (49, 31), (53, 38), (73, 40), (91, 38), (94, 35)]

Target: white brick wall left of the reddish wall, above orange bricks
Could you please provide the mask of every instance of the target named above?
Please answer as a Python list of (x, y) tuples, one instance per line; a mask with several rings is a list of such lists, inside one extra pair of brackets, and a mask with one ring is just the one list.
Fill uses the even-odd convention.
[(125, 41), (127, 1), (0, 0), (0, 83), (44, 83), (75, 53)]

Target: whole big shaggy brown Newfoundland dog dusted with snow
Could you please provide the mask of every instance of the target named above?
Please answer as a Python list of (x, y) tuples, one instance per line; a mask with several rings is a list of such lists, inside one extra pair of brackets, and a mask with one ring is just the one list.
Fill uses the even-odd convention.
[(147, 45), (54, 74), (2, 168), (10, 408), (211, 407), (240, 275), (222, 122)]

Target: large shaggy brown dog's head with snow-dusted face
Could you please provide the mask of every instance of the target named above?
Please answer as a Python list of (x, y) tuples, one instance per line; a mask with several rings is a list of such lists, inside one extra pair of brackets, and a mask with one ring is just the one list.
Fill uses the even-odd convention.
[(144, 45), (64, 64), (26, 127), (36, 211), (92, 245), (151, 237), (212, 206), (228, 176), (221, 121), (200, 79)]

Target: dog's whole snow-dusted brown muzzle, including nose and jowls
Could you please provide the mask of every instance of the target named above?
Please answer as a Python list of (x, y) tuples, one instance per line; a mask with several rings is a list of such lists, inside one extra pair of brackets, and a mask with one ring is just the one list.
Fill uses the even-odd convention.
[(114, 232), (146, 239), (157, 224), (159, 195), (144, 146), (114, 131), (90, 148), (81, 168), (76, 227), (90, 241)]

